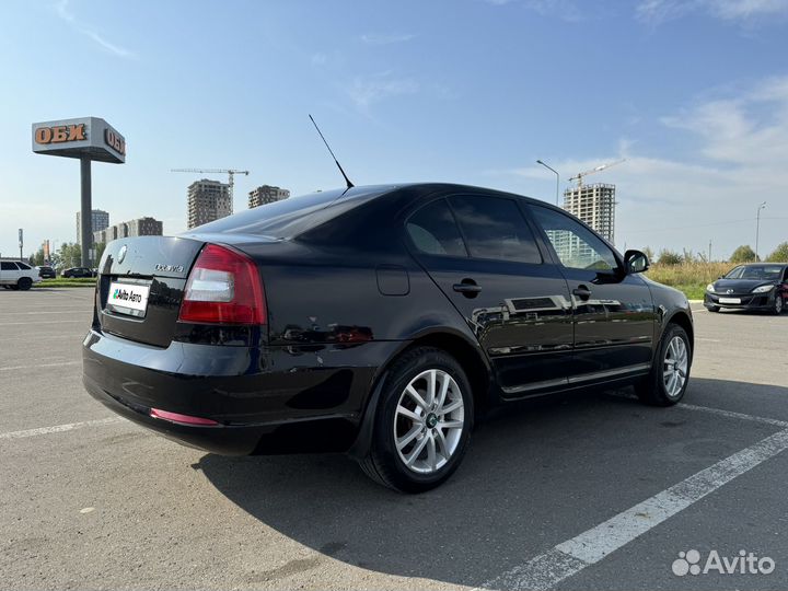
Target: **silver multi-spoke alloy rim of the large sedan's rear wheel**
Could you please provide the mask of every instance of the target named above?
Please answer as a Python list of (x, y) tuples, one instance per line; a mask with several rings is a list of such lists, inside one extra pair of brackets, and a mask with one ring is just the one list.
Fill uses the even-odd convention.
[(440, 369), (416, 375), (399, 395), (394, 414), (394, 442), (403, 464), (433, 474), (460, 444), (465, 404), (454, 378)]

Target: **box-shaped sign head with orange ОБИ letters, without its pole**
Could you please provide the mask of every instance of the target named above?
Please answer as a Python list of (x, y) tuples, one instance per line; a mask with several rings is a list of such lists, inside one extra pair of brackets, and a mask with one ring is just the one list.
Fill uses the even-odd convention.
[(126, 162), (126, 139), (99, 117), (33, 124), (33, 151), (38, 154)]

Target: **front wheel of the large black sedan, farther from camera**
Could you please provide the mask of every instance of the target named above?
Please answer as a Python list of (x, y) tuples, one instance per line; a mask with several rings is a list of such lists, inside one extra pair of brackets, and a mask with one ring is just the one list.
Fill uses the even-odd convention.
[(669, 324), (660, 340), (651, 372), (635, 385), (641, 402), (672, 406), (684, 397), (690, 381), (692, 348), (686, 331)]

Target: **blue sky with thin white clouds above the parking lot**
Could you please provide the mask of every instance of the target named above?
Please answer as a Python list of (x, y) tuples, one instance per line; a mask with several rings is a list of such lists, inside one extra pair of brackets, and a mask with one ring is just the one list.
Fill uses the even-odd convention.
[[(0, 7), (0, 253), (74, 241), (79, 165), (31, 123), (97, 116), (127, 163), (93, 165), (111, 223), (185, 229), (173, 167), (237, 167), (293, 195), (449, 181), (552, 201), (614, 183), (616, 245), (727, 257), (788, 240), (788, 0), (108, 2)], [(223, 179), (223, 178), (222, 178)]]

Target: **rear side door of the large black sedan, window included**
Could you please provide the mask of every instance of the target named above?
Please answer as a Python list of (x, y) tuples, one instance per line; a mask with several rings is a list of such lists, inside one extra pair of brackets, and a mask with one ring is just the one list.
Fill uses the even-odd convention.
[(405, 227), (415, 258), (478, 338), (502, 395), (565, 387), (569, 289), (517, 199), (449, 195), (422, 206)]

